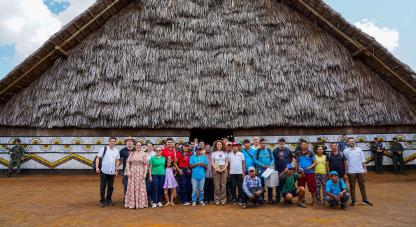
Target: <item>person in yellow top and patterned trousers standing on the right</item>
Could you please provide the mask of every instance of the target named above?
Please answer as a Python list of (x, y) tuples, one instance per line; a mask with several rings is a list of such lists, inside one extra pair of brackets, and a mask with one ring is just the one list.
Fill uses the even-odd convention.
[(316, 165), (314, 168), (315, 171), (315, 181), (316, 181), (316, 202), (318, 204), (323, 204), (321, 200), (321, 188), (322, 188), (322, 199), (325, 196), (325, 182), (326, 177), (328, 174), (327, 166), (326, 166), (326, 155), (324, 155), (324, 148), (322, 146), (318, 146), (316, 148)]

